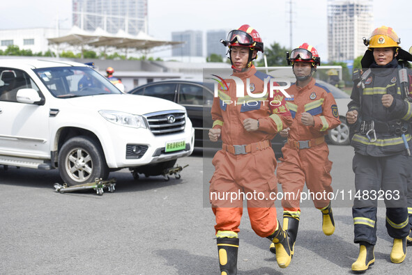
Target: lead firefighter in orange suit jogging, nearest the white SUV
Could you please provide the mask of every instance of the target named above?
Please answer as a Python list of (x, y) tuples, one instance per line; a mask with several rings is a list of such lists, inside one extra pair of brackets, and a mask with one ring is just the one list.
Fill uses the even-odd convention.
[[(276, 219), (273, 197), (277, 191), (276, 159), (270, 140), (284, 127), (289, 127), (291, 114), (284, 95), (274, 91), (270, 97), (270, 81), (264, 81), (268, 75), (257, 72), (252, 65), (257, 52), (264, 51), (259, 33), (243, 25), (230, 31), (227, 40), (221, 42), (229, 47), (231, 77), (243, 81), (244, 91), (237, 97), (236, 82), (225, 79), (211, 111), (213, 129), (209, 131), (209, 138), (211, 141), (222, 139), (222, 150), (213, 158), (215, 173), (210, 186), (220, 271), (221, 274), (237, 272), (238, 226), (243, 214), (243, 199), (247, 199), (252, 229), (275, 243), (276, 249), (281, 251), (276, 256), (277, 263), (284, 268), (291, 261), (291, 252), (287, 234)], [(259, 96), (254, 97), (247, 91)], [(216, 194), (240, 196), (232, 200)]]

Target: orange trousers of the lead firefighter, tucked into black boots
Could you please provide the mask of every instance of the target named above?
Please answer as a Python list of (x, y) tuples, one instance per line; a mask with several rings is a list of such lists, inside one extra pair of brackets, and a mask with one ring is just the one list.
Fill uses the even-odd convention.
[(233, 155), (220, 150), (213, 158), (210, 200), (216, 217), (215, 230), (239, 232), (243, 201), (254, 232), (268, 237), (276, 229), (276, 159), (272, 148)]

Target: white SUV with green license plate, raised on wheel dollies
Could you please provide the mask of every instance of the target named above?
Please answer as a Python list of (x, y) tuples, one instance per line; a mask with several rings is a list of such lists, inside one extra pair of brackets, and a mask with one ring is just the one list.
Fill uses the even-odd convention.
[(192, 153), (185, 108), (121, 93), (89, 66), (0, 59), (0, 164), (59, 168), (68, 185), (120, 168), (160, 174)]

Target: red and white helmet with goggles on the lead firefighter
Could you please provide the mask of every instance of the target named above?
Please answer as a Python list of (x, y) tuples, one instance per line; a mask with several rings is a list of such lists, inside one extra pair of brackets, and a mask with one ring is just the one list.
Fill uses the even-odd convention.
[(242, 25), (237, 30), (230, 31), (227, 40), (220, 40), (220, 42), (228, 47), (249, 47), (264, 52), (264, 42), (261, 40), (259, 33), (247, 24)]

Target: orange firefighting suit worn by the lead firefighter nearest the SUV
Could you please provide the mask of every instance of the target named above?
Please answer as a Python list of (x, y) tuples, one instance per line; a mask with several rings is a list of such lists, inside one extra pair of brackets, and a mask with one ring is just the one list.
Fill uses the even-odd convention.
[[(216, 217), (215, 230), (218, 237), (236, 235), (243, 214), (243, 199), (247, 199), (252, 229), (260, 237), (267, 237), (277, 226), (275, 198), (270, 198), (275, 195), (270, 192), (277, 191), (276, 159), (270, 140), (284, 127), (289, 127), (291, 113), (280, 91), (274, 91), (273, 97), (270, 97), (270, 88), (259, 98), (247, 95), (246, 84), (250, 92), (259, 94), (264, 91), (264, 79), (268, 77), (257, 72), (253, 65), (245, 72), (234, 71), (232, 77), (243, 81), (245, 96), (236, 97), (235, 81), (225, 79), (227, 86), (219, 88), (211, 111), (213, 128), (222, 129), (223, 143), (212, 161), (215, 173), (210, 199)], [(247, 132), (243, 127), (246, 118), (259, 120), (259, 129)], [(224, 194), (229, 197), (224, 198)]]

